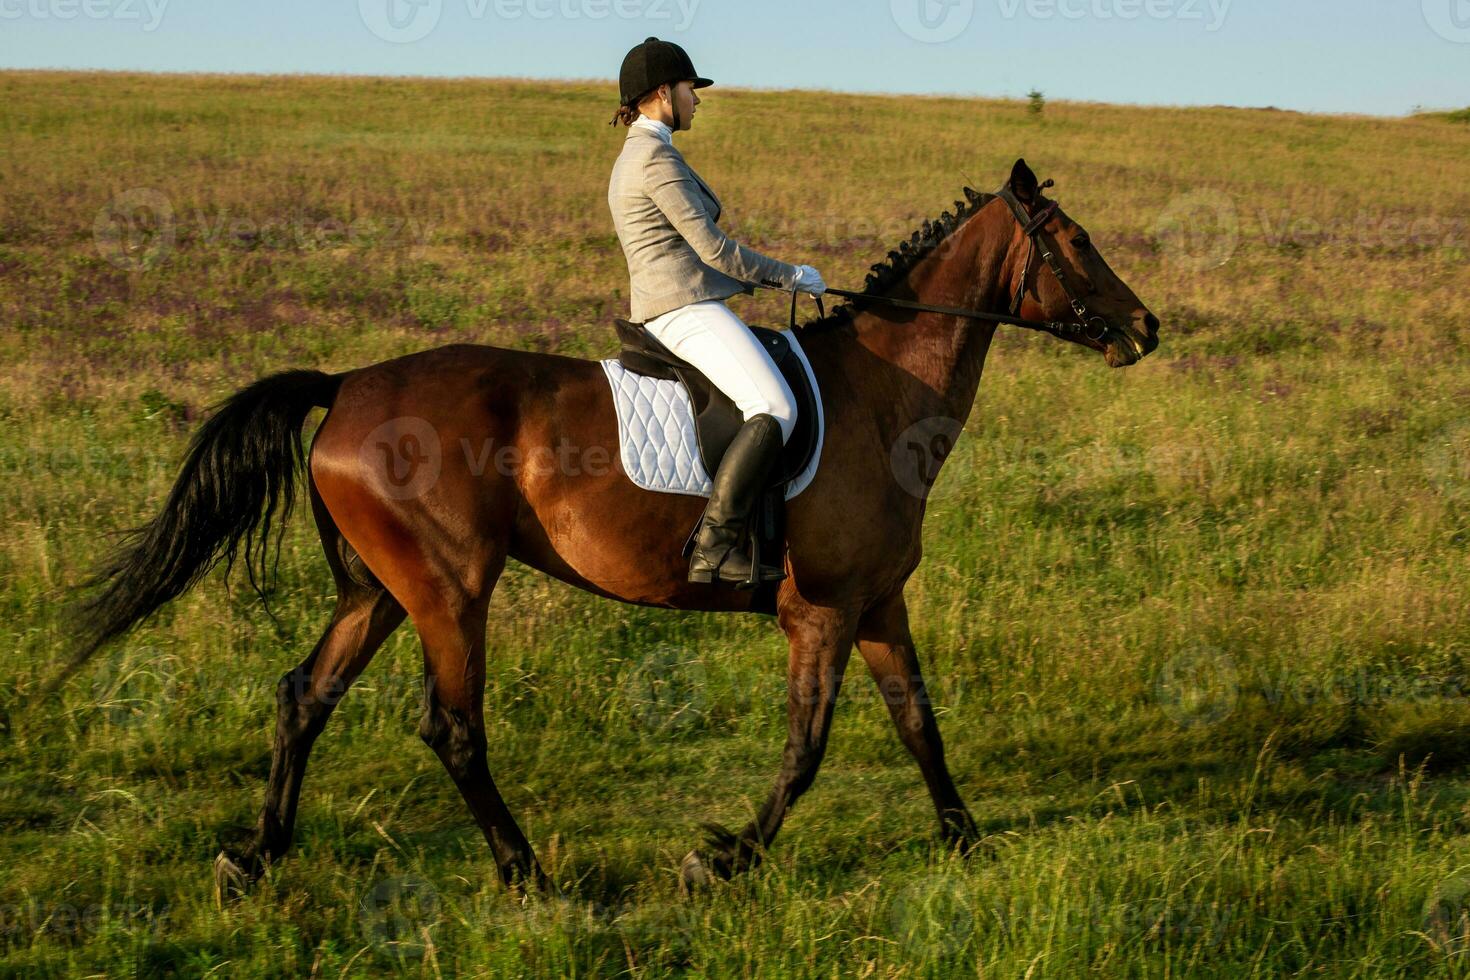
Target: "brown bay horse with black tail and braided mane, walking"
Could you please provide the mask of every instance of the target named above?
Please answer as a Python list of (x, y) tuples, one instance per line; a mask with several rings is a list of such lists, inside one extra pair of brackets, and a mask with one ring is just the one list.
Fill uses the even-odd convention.
[[(1045, 217), (1051, 203), (1025, 162), (1007, 187), (1028, 216)], [(891, 460), (911, 448), (904, 441), (914, 432), (932, 435), (925, 426), (935, 420), (958, 430), (995, 326), (876, 297), (1003, 311), (1020, 292), (1020, 316), (1036, 320), (1066, 320), (1072, 304), (1055, 273), (1033, 262), (1011, 209), (969, 188), (966, 198), (875, 266), (864, 291), (875, 300), (803, 328), (826, 442), (813, 483), (788, 507), (788, 577), (766, 594), (685, 580), (681, 547), (703, 501), (628, 479), (595, 361), (456, 345), (335, 376), (273, 375), (229, 398), (196, 435), (163, 511), (93, 580), (96, 627), (66, 674), (218, 561), (243, 557), (253, 583), (266, 572), (272, 519), (290, 511), (303, 461), (301, 426), (325, 407), (307, 470), (337, 610), (281, 680), (265, 807), (248, 845), (216, 860), (223, 889), (248, 886), (290, 848), (312, 743), (404, 616), (423, 644), (425, 742), (469, 804), (501, 879), (547, 884), (485, 763), (485, 623), (507, 558), (623, 602), (776, 614), (791, 646), (781, 771), (750, 826), (713, 827), (691, 852), (686, 880), (748, 868), (775, 839), (817, 774), (854, 645), (919, 763), (944, 839), (967, 848), (975, 821), (945, 767), (904, 607), (925, 488), (950, 442), (919, 438), (917, 489)], [(1080, 226), (1054, 209), (1038, 235), (1107, 326), (1101, 339), (1070, 339), (1114, 367), (1157, 347), (1158, 320)]]

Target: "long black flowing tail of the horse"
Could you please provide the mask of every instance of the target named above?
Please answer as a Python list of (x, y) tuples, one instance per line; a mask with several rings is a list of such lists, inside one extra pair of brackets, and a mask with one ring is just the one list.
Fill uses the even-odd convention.
[[(46, 691), (56, 691), (109, 641), (188, 591), (225, 560), (243, 558), (250, 585), (265, 599), (270, 539), (295, 500), (306, 453), (301, 426), (313, 407), (329, 408), (341, 378), (288, 370), (241, 389), (200, 426), (168, 502), (82, 588), (81, 645)], [(272, 535), (275, 530), (275, 535)]]

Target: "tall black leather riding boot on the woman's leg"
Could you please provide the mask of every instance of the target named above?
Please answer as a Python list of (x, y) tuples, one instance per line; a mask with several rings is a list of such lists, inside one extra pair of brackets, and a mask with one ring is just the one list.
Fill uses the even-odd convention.
[(781, 423), (759, 414), (745, 422), (725, 450), (710, 504), (689, 555), (689, 582), (745, 582), (750, 547), (745, 529), (756, 501), (781, 457)]

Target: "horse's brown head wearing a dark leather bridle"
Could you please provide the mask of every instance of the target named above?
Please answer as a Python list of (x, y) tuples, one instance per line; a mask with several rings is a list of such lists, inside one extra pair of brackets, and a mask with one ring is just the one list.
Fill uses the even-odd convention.
[(1013, 314), (1083, 322), (1089, 329), (1067, 339), (1100, 351), (1110, 367), (1136, 364), (1158, 347), (1158, 317), (1108, 267), (1086, 229), (1042, 194), (1050, 185), (1016, 160), (1001, 190), (1017, 212), (1007, 262)]

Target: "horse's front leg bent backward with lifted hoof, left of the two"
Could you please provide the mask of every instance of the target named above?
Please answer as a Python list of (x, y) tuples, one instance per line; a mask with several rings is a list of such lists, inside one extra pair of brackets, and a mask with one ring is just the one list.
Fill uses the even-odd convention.
[(688, 884), (703, 884), (709, 871), (729, 877), (753, 867), (760, 860), (760, 851), (776, 837), (786, 811), (811, 786), (822, 765), (842, 671), (853, 652), (856, 617), (845, 610), (814, 607), (794, 598), (782, 605), (779, 619), (791, 644), (786, 666), (786, 748), (781, 774), (757, 818), (739, 835), (707, 826), (707, 855), (691, 852), (685, 858), (684, 879)]

